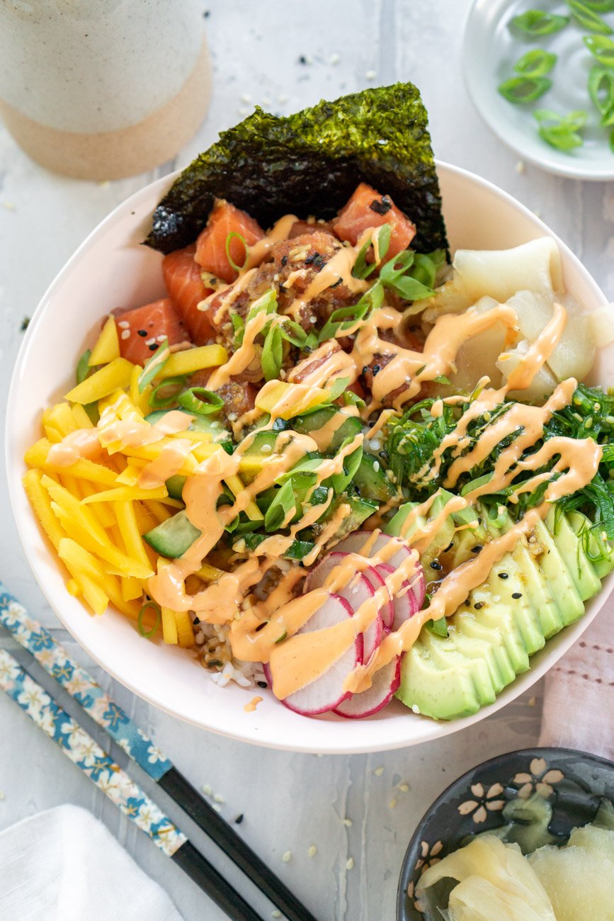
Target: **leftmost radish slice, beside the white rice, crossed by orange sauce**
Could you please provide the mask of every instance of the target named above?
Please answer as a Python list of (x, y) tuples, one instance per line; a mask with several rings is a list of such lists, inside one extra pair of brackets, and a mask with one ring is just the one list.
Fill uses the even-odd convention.
[[(328, 599), (319, 607), (318, 611), (309, 618), (298, 633), (311, 633), (324, 630), (326, 627), (341, 624), (347, 617), (352, 617), (353, 611), (350, 604), (339, 595), (330, 594)], [(315, 717), (319, 713), (334, 710), (348, 696), (343, 691), (343, 682), (363, 661), (363, 635), (356, 636), (352, 646), (327, 669), (324, 674), (309, 682), (304, 687), (289, 694), (282, 703), (288, 709), (294, 710), (305, 717)], [(269, 665), (264, 665), (264, 674), (267, 682), (272, 687), (272, 672)]]

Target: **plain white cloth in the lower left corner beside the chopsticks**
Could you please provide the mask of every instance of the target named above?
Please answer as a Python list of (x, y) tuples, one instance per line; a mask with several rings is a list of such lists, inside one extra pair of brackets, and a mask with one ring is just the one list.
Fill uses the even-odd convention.
[(0, 918), (181, 921), (167, 893), (105, 826), (70, 805), (0, 833)]

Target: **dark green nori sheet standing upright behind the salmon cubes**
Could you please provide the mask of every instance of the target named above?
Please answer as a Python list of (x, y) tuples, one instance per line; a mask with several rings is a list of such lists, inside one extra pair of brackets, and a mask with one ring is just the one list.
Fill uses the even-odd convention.
[(257, 108), (183, 170), (157, 205), (145, 243), (162, 252), (187, 246), (215, 197), (261, 227), (288, 213), (329, 218), (360, 181), (411, 217), (414, 249), (447, 250), (426, 110), (411, 83), (321, 101), (287, 118)]

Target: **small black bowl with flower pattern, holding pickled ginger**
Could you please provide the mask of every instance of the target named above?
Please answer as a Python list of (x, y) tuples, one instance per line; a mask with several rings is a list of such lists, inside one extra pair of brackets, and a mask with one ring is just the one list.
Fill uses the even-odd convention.
[(421, 921), (414, 891), (423, 870), (456, 850), (469, 834), (504, 824), (511, 799), (539, 793), (552, 807), (550, 832), (566, 839), (595, 818), (601, 800), (614, 799), (614, 764), (571, 749), (527, 749), (479, 764), (459, 777), (423, 816), (403, 859), (398, 921)]

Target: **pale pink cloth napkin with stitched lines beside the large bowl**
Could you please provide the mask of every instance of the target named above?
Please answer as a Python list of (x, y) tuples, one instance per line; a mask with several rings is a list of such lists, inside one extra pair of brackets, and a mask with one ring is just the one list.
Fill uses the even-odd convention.
[(614, 760), (614, 597), (548, 672), (539, 744)]

